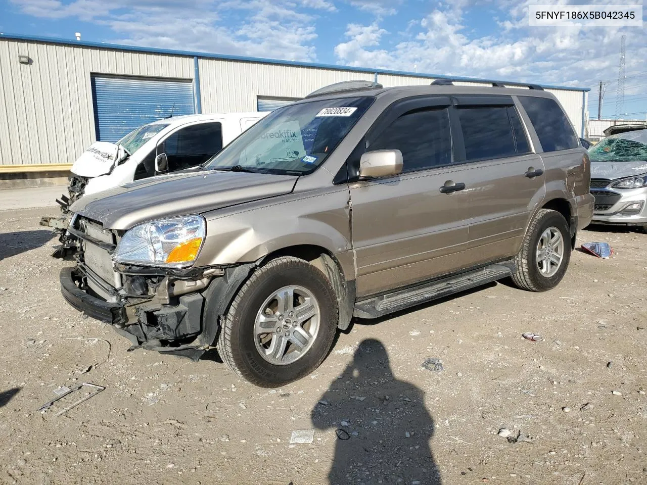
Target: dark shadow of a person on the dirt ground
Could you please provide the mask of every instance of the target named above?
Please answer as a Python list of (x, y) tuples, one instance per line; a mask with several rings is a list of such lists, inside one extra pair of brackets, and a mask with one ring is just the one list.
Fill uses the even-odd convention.
[(330, 484), (441, 484), (430, 440), (433, 418), (424, 393), (398, 380), (377, 339), (362, 341), (353, 361), (311, 414), (317, 429), (336, 433)]

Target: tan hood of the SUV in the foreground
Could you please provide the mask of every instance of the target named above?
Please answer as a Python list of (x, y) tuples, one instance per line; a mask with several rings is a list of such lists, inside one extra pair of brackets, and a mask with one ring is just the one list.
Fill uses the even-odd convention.
[(126, 230), (141, 222), (199, 214), (290, 193), (298, 176), (198, 170), (161, 175), (86, 195), (72, 204), (76, 213)]

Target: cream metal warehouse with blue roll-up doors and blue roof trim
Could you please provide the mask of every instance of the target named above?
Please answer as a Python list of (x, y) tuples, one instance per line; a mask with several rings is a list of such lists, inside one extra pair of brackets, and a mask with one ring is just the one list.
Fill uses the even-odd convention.
[[(0, 188), (60, 183), (95, 140), (116, 141), (171, 113), (270, 111), (338, 81), (391, 87), (443, 77), (0, 34)], [(584, 136), (589, 89), (544, 87)]]

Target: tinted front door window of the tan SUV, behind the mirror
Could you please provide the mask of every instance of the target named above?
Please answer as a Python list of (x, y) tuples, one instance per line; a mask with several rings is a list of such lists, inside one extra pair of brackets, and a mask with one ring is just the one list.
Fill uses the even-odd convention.
[(402, 172), (452, 163), (452, 139), (447, 109), (414, 111), (397, 118), (369, 150), (400, 150)]

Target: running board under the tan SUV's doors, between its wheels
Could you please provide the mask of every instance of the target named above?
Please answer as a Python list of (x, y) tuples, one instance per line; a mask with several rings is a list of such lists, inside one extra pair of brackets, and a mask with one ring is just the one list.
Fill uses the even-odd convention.
[(413, 307), (419, 303), (476, 288), (510, 276), (516, 271), (512, 261), (491, 264), (479, 270), (446, 277), (430, 283), (413, 286), (386, 295), (376, 296), (355, 303), (353, 316), (358, 318), (378, 318), (389, 313)]

